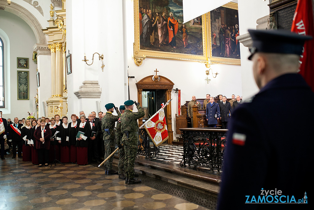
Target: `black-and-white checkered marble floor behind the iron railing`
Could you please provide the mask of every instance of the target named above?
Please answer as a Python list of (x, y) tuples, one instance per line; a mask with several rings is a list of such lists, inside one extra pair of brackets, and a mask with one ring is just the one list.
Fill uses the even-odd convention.
[(183, 158), (183, 146), (160, 145), (159, 156), (153, 159), (180, 164)]

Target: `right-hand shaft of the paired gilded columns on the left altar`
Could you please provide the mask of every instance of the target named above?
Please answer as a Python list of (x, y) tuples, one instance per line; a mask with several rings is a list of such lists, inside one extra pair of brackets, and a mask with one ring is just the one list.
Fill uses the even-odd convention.
[(55, 96), (62, 97), (62, 43), (56, 43)]

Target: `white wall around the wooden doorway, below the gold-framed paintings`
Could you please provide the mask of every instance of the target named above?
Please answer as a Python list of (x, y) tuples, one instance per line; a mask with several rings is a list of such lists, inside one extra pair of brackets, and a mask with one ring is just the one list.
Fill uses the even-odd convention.
[[(127, 12), (127, 62), (129, 76), (134, 76), (134, 79), (129, 79), (130, 98), (137, 100), (137, 88), (135, 83), (142, 78), (153, 75), (155, 69), (158, 74), (169, 78), (175, 85), (174, 88), (181, 89), (181, 105), (186, 100), (191, 100), (192, 95), (196, 98), (206, 98), (206, 94), (217, 96), (223, 94), (227, 98), (231, 98), (232, 94), (242, 95), (241, 87), (241, 66), (217, 64), (212, 65), (211, 69), (219, 73), (216, 78), (213, 78), (211, 73), (208, 76), (211, 81), (209, 84), (205, 82), (207, 68), (204, 64), (195, 61), (167, 60), (146, 58), (141, 66), (134, 63), (133, 43), (134, 43), (134, 16), (133, 16), (133, 1), (126, 0)], [(175, 114), (178, 113), (177, 94), (172, 92), (173, 98), (171, 103), (172, 110), (172, 130), (176, 134)]]

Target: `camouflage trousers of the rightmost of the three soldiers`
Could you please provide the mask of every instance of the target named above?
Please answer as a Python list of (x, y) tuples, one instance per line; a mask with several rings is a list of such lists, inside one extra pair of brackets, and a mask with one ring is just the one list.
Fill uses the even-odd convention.
[(125, 151), (124, 170), (129, 179), (134, 178), (134, 162), (138, 151), (138, 134), (130, 134), (129, 138), (123, 135), (123, 148)]

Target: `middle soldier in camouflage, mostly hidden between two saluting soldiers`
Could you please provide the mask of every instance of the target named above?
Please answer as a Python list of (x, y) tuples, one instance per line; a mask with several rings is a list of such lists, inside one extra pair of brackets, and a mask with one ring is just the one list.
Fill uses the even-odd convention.
[[(121, 116), (124, 113), (125, 106), (121, 105), (119, 107)], [(122, 132), (121, 132), (121, 118), (119, 118), (116, 126), (116, 144), (119, 147), (119, 162), (118, 162), (118, 173), (119, 173), (119, 179), (125, 179), (124, 175), (124, 148), (122, 147)]]

